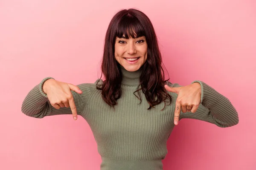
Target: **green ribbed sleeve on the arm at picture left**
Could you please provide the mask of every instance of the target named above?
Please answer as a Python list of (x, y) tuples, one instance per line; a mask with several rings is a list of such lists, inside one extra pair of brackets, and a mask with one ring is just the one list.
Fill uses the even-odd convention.
[[(38, 85), (29, 91), (21, 106), (22, 113), (35, 118), (43, 118), (44, 116), (60, 114), (72, 114), (70, 107), (56, 109), (50, 104), (47, 94), (45, 94), (43, 91), (43, 84), (47, 79), (53, 78), (44, 78)], [(91, 84), (83, 83), (77, 86), (81, 89), (81, 91), (83, 91), (83, 93), (78, 94), (75, 91), (71, 91), (71, 93), (74, 98), (77, 114), (81, 115), (82, 109), (87, 104), (87, 99), (90, 95), (91, 88), (88, 88), (88, 86), (91, 86)]]

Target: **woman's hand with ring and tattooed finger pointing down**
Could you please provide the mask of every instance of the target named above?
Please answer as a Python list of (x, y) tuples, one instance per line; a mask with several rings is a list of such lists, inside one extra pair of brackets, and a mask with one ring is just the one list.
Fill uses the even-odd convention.
[(191, 111), (195, 113), (201, 102), (201, 85), (198, 82), (194, 82), (190, 85), (181, 86), (177, 88), (164, 85), (167, 91), (178, 94), (176, 99), (176, 106), (174, 112), (174, 124), (178, 125), (180, 108), (183, 113)]

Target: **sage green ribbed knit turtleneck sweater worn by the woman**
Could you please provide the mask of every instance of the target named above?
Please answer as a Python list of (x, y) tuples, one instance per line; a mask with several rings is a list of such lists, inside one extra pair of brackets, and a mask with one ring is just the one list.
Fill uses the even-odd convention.
[[(77, 94), (71, 91), (78, 115), (90, 125), (102, 156), (101, 170), (163, 170), (162, 159), (167, 154), (166, 142), (174, 128), (174, 112), (177, 94), (172, 96), (171, 105), (164, 102), (149, 107), (145, 95), (141, 93), (142, 102), (134, 95), (139, 85), (140, 69), (129, 72), (123, 67), (122, 96), (117, 100), (115, 111), (107, 105), (96, 89), (95, 83), (78, 85), (83, 91)], [(70, 108), (55, 109), (50, 105), (42, 89), (43, 83), (52, 77), (46, 77), (32, 88), (25, 97), (21, 111), (27, 116), (43, 118), (44, 116), (72, 114)], [(238, 124), (239, 117), (229, 99), (219, 94), (202, 81), (201, 103), (196, 113), (180, 113), (180, 119), (190, 118), (203, 120), (218, 127), (230, 127)], [(194, 83), (192, 82), (192, 83)], [(177, 83), (168, 82), (171, 87)], [(140, 104), (138, 104), (140, 103)], [(84, 168), (86, 169), (86, 168)]]

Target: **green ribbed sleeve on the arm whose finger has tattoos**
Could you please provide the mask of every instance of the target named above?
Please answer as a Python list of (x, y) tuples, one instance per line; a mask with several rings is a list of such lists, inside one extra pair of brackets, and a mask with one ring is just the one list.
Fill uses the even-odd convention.
[[(218, 127), (230, 127), (237, 125), (239, 116), (227, 97), (221, 95), (215, 89), (206, 83), (195, 80), (201, 85), (201, 102), (195, 113), (180, 111), (180, 118), (198, 119), (217, 125)], [(191, 84), (192, 84), (191, 83)], [(170, 87), (180, 87), (179, 84), (169, 83)], [(175, 101), (177, 99), (176, 93), (171, 93)]]

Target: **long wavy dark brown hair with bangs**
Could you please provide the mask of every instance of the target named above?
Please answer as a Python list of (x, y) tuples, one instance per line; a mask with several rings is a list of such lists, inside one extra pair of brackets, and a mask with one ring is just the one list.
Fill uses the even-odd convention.
[[(145, 36), (148, 44), (148, 54), (147, 60), (141, 66), (141, 88), (138, 87), (137, 91), (142, 90), (145, 94), (145, 97), (150, 105), (148, 109), (151, 109), (152, 107), (154, 108), (154, 105), (158, 105), (162, 101), (165, 102), (165, 108), (165, 100), (169, 98), (171, 103), (172, 99), (164, 88), (166, 81), (169, 79), (164, 80), (164, 71), (162, 67), (163, 62), (157, 43), (157, 36), (149, 18), (143, 12), (134, 8), (123, 9), (116, 13), (108, 26), (101, 65), (102, 74), (104, 74), (105, 80), (103, 81), (101, 87), (98, 87), (98, 81), (96, 88), (98, 90), (102, 90), (103, 100), (114, 108), (114, 105), (117, 104), (117, 99), (119, 99), (122, 95), (122, 91), (120, 89), (122, 73), (120, 65), (114, 57), (114, 45), (116, 37), (121, 38), (123, 34), (125, 37), (132, 38), (135, 38), (136, 36)], [(137, 91), (134, 91), (135, 96), (137, 96), (135, 94)], [(137, 96), (137, 98), (140, 99), (141, 103), (141, 95), (140, 93), (138, 94), (140, 97)]]

